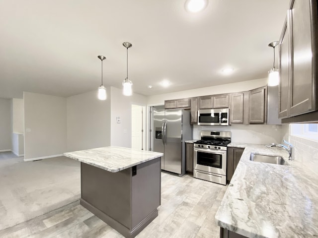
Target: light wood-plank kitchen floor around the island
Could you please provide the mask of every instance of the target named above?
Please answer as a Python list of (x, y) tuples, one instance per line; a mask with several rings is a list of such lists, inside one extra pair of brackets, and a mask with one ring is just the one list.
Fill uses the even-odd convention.
[[(159, 216), (137, 238), (219, 238), (214, 216), (227, 186), (161, 173)], [(122, 238), (79, 201), (0, 231), (5, 238)]]

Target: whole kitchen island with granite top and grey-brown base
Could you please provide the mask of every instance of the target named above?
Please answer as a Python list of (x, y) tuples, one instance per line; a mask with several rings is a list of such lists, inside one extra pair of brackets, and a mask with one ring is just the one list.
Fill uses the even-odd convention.
[(64, 153), (80, 162), (80, 204), (126, 238), (158, 216), (162, 155), (117, 146)]

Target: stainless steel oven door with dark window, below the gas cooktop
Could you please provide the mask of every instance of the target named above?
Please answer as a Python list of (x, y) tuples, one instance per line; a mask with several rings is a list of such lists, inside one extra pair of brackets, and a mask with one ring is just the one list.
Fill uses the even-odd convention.
[(193, 169), (227, 175), (227, 152), (224, 150), (193, 149)]

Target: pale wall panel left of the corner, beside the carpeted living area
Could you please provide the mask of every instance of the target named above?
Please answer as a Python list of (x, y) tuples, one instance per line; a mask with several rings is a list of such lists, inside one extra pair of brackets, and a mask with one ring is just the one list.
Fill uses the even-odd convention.
[(24, 160), (66, 151), (66, 98), (23, 92)]

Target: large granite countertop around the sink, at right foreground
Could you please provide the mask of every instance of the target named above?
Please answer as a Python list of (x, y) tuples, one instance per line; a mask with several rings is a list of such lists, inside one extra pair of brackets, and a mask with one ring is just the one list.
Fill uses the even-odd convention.
[[(283, 148), (245, 148), (215, 216), (220, 227), (250, 238), (318, 237), (318, 177)], [(250, 153), (280, 155), (289, 166), (253, 162)]]

